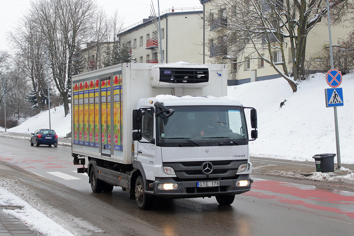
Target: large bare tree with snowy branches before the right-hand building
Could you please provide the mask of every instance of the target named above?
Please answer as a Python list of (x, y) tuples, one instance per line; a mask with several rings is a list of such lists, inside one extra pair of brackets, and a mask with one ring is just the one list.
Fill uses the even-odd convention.
[[(350, 12), (350, 6), (344, 4), (346, 2), (331, 1), (333, 22), (340, 20), (339, 12)], [(210, 51), (217, 50), (221, 55), (219, 59), (236, 59), (238, 63), (262, 59), (272, 65), (296, 92), (297, 85), (290, 75), (293, 74), (294, 80), (306, 75), (307, 36), (326, 16), (326, 1), (219, 0), (212, 6), (218, 9), (218, 13), (210, 14), (207, 21), (211, 28), (211, 39), (218, 44), (217, 47), (211, 47)], [(291, 62), (288, 65), (285, 48), (289, 44)]]

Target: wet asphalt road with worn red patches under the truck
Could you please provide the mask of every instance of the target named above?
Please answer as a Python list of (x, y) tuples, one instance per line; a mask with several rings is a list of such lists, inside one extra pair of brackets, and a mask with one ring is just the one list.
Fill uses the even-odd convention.
[(158, 199), (142, 211), (121, 188), (93, 193), (88, 176), (75, 172), (70, 147), (0, 137), (0, 161), (1, 186), (82, 236), (353, 235), (350, 188), (259, 172), (252, 174), (252, 190), (231, 206), (219, 206), (214, 197)]

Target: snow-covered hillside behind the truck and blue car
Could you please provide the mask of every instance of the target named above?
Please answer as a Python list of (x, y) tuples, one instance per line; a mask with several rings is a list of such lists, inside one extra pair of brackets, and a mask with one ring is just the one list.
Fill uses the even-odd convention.
[[(344, 75), (341, 87), (344, 107), (337, 108), (341, 161), (353, 164), (354, 74)], [(334, 113), (326, 108), (325, 88), (329, 88), (325, 74), (300, 82), (296, 93), (282, 78), (228, 87), (228, 96), (257, 109), (258, 139), (250, 142), (251, 155), (313, 161), (315, 154), (336, 153)], [(60, 137), (70, 132), (70, 124), (63, 107), (51, 109), (51, 127)], [(48, 127), (48, 112), (42, 112), (8, 131), (31, 133)]]

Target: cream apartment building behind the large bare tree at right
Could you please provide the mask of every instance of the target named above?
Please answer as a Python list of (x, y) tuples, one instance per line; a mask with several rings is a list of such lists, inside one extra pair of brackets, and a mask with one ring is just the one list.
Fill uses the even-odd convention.
[[(240, 0), (242, 1), (242, 0)], [(268, 79), (275, 79), (281, 77), (281, 75), (272, 67), (272, 65), (266, 63), (263, 59), (259, 58), (259, 53), (254, 52), (254, 50), (246, 50), (244, 54), (238, 56), (237, 58), (230, 53), (228, 53), (228, 48), (224, 44), (227, 41), (227, 36), (220, 37), (220, 34), (215, 34), (219, 31), (224, 31), (225, 35), (230, 35), (227, 33), (227, 27), (230, 21), (228, 21), (228, 17), (233, 17), (230, 15), (230, 12), (233, 11), (233, 7), (230, 3), (225, 4), (227, 1), (223, 0), (200, 0), (201, 4), (204, 8), (204, 61), (205, 63), (210, 63), (215, 61), (215, 57), (219, 57), (221, 60), (224, 60), (224, 63), (228, 63), (228, 71), (229, 71), (229, 85), (240, 85), (252, 81), (261, 81)], [(247, 1), (245, 1), (247, 2)], [(279, 4), (282, 4), (282, 0), (279, 0)], [(246, 6), (247, 7), (247, 6)], [(225, 14), (225, 9), (228, 8), (228, 14)], [(235, 12), (235, 17), (238, 12)], [(213, 23), (207, 23), (206, 19), (215, 19)], [(348, 36), (348, 33), (352, 31), (353, 25), (332, 25), (332, 42), (336, 44), (338, 39), (345, 39)], [(218, 35), (217, 38), (214, 38), (213, 35)], [(284, 39), (286, 42), (287, 39)], [(326, 20), (316, 24), (316, 26), (310, 31), (307, 36), (306, 42), (306, 57), (309, 61), (313, 61), (310, 66), (310, 71), (313, 73), (317, 72), (316, 62), (312, 59), (312, 57), (323, 48), (325, 44), (329, 43), (329, 29), (328, 23)], [(230, 44), (228, 44), (229, 46)], [(292, 71), (291, 62), (291, 46), (288, 41), (285, 44), (286, 48), (284, 49), (284, 58), (287, 62), (288, 71)], [(250, 47), (251, 48), (251, 47)], [(268, 50), (264, 50), (261, 52), (264, 58), (273, 57), (273, 61), (278, 63), (277, 66), (281, 71), (283, 71), (281, 67), (281, 62), (283, 58), (281, 57), (281, 52), (278, 49), (274, 49), (272, 53), (269, 53)], [(257, 58), (258, 57), (258, 58)], [(256, 59), (250, 59), (256, 58)], [(311, 59), (310, 59), (311, 58)], [(241, 67), (236, 70), (236, 64), (232, 62), (242, 62)]]

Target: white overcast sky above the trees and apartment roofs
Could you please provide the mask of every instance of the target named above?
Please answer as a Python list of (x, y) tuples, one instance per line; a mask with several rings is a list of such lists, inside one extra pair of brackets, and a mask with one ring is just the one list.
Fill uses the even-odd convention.
[[(0, 0), (0, 50), (9, 50), (6, 32), (16, 27), (19, 18), (30, 7), (31, 0)], [(124, 26), (135, 24), (150, 15), (150, 5), (154, 4), (157, 12), (158, 0), (97, 0), (108, 14), (116, 9), (124, 19)], [(159, 0), (160, 12), (168, 8), (201, 7), (199, 0)]]

